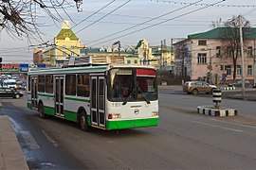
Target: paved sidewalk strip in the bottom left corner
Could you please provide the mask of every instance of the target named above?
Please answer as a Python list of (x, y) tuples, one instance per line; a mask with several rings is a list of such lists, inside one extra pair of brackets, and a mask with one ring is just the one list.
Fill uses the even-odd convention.
[[(2, 104), (0, 103), (2, 107)], [(0, 113), (0, 169), (29, 169), (7, 115)]]

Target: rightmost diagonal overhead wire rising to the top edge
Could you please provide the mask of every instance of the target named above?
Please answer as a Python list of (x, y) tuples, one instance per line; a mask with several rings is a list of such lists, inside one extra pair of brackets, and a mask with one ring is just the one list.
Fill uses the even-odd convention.
[[(193, 9), (193, 10), (188, 11), (188, 12), (185, 12), (185, 13), (183, 13), (183, 14), (180, 14), (180, 15), (174, 16), (173, 18), (170, 18), (170, 19), (168, 19), (168, 20), (165, 20), (165, 21), (159, 22), (159, 23), (157, 23), (157, 24), (155, 24), (155, 25), (152, 25), (152, 26), (146, 26), (146, 27), (144, 27), (144, 28), (141, 28), (141, 29), (138, 29), (138, 30), (135, 30), (135, 31), (129, 32), (129, 33), (127, 33), (127, 34), (124, 34), (124, 35), (118, 36), (118, 37), (113, 38), (113, 39), (109, 39), (109, 40), (104, 41), (104, 42), (110, 42), (110, 41), (117, 40), (117, 39), (122, 38), (122, 37), (129, 36), (129, 35), (131, 35), (131, 34), (134, 34), (134, 33), (137, 33), (137, 32), (139, 32), (139, 31), (142, 31), (142, 30), (148, 29), (148, 28), (150, 28), (150, 27), (158, 26), (158, 25), (161, 25), (161, 24), (163, 24), (163, 23), (166, 23), (166, 22), (169, 22), (169, 21), (171, 21), (171, 20), (174, 20), (174, 19), (176, 19), (176, 18), (179, 18), (179, 17), (185, 16), (185, 15), (189, 15), (189, 14), (191, 14), (191, 13), (193, 13), (193, 12), (196, 12), (196, 11), (199, 11), (199, 10), (202, 10), (202, 9), (205, 9), (205, 8), (210, 8), (210, 7), (212, 7), (212, 6), (216, 5), (216, 4), (222, 3), (222, 2), (224, 2), (224, 1), (225, 1), (225, 0), (221, 0), (221, 1), (218, 1), (218, 2), (216, 2), (216, 3), (213, 3), (213, 4), (209, 5), (209, 6), (207, 6), (207, 7)], [(103, 42), (99, 42), (99, 43), (96, 43), (96, 44), (93, 44), (93, 45), (97, 45), (97, 44), (101, 44), (101, 43), (103, 43)]]

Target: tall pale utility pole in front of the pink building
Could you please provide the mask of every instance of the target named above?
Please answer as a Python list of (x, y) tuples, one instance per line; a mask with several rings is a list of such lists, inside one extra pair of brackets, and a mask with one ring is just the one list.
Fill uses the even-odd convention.
[(242, 60), (242, 96), (245, 99), (245, 59), (244, 59), (244, 42), (242, 30), (242, 17), (239, 15), (239, 30), (240, 30), (240, 46), (241, 46), (241, 60)]

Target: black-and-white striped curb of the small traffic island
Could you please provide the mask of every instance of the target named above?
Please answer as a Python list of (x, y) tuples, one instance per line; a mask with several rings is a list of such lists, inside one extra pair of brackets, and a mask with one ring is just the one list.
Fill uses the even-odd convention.
[(206, 114), (210, 116), (235, 116), (237, 115), (236, 109), (215, 109), (212, 106), (198, 106), (197, 113)]

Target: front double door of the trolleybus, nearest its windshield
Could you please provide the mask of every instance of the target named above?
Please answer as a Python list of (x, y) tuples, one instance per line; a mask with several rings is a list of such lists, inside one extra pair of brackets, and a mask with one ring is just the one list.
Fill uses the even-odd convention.
[(104, 76), (91, 76), (91, 121), (92, 125), (105, 127)]

